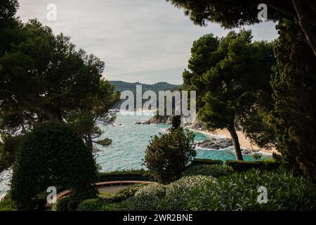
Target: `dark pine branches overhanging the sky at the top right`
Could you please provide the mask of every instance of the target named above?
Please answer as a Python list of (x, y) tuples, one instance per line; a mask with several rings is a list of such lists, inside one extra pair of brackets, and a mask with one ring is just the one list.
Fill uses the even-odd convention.
[(179, 8), (197, 25), (220, 23), (232, 28), (252, 25), (258, 21), (258, 5), (268, 6), (268, 20), (296, 18), (301, 30), (316, 55), (316, 2), (312, 0), (167, 0)]

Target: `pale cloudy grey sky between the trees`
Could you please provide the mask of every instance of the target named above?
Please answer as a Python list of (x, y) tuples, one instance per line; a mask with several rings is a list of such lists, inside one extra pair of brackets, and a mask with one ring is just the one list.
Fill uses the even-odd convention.
[[(182, 83), (193, 41), (204, 34), (223, 37), (230, 30), (218, 24), (194, 25), (183, 10), (166, 0), (19, 0), (23, 22), (37, 18), (55, 34), (105, 62), (109, 80), (154, 84)], [(55, 4), (56, 20), (47, 6)], [(273, 23), (250, 27), (254, 40), (277, 38)]]

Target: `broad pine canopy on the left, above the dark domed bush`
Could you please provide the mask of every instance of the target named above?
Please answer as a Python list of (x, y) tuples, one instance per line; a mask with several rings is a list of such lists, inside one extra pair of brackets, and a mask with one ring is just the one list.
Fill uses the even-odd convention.
[(97, 123), (114, 121), (109, 110), (119, 94), (102, 77), (104, 63), (37, 20), (15, 30), (18, 40), (0, 55), (0, 129), (26, 133), (36, 122), (60, 120), (72, 124), (91, 150), (96, 139), (110, 144), (100, 139)]

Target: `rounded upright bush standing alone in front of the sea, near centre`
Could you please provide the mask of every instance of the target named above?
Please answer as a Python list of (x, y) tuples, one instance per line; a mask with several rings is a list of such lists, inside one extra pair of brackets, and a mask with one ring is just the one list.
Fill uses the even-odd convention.
[(196, 155), (191, 146), (193, 139), (194, 134), (184, 132), (182, 128), (153, 137), (147, 146), (144, 164), (154, 173), (157, 181), (169, 183), (180, 177), (187, 163)]

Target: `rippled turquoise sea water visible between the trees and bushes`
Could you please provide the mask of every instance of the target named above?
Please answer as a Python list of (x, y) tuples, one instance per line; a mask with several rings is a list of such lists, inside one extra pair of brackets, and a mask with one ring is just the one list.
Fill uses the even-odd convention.
[[(169, 125), (166, 124), (135, 124), (136, 121), (148, 120), (152, 115), (121, 115), (113, 125), (103, 126), (106, 137), (112, 139), (112, 145), (100, 147), (96, 160), (103, 171), (117, 169), (140, 169), (145, 149), (154, 134), (164, 133)], [(204, 141), (209, 136), (200, 132), (195, 133), (195, 141)], [(224, 150), (197, 148), (197, 157), (213, 160), (235, 160), (232, 147)], [(270, 158), (263, 155), (261, 159)], [(244, 160), (254, 161), (251, 155), (244, 155)]]

